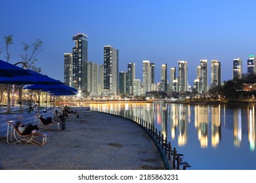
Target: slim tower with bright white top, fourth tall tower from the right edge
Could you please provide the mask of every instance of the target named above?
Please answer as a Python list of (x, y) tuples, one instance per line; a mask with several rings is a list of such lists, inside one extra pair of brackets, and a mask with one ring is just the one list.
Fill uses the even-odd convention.
[(208, 91), (207, 59), (200, 60), (200, 93)]

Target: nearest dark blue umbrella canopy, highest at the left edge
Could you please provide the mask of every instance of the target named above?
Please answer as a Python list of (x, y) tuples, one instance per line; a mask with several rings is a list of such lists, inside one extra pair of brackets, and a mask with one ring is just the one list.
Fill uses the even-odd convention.
[(26, 69), (22, 69), (21, 67), (18, 67), (0, 59), (0, 78), (12, 78), (14, 76), (26, 75), (32, 75), (32, 73), (29, 73)]

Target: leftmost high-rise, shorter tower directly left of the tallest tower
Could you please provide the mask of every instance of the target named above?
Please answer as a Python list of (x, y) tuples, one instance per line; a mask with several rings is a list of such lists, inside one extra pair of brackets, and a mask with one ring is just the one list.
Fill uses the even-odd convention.
[(67, 84), (68, 86), (75, 88), (74, 82), (72, 82), (73, 81), (72, 64), (73, 64), (72, 54), (70, 53), (64, 54), (64, 83)]

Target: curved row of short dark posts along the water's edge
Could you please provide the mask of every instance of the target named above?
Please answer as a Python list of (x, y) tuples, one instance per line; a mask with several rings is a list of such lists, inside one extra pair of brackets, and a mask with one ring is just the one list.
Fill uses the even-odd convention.
[[(127, 114), (126, 112), (118, 112), (116, 110), (103, 110), (103, 109), (99, 109), (99, 108), (91, 108), (91, 110), (95, 110), (97, 112), (105, 112), (108, 114), (114, 114), (116, 116), (121, 116), (123, 118), (127, 118), (129, 120), (132, 120), (133, 122), (136, 122), (137, 124), (141, 125), (144, 129), (146, 129), (146, 131), (148, 131), (148, 133), (150, 133), (151, 138), (158, 142), (160, 148), (161, 148), (161, 153), (164, 153), (165, 156), (168, 157), (168, 161), (173, 160), (172, 162), (172, 167), (173, 169), (180, 169), (181, 166), (181, 161), (182, 161), (182, 157), (183, 154), (178, 154), (176, 148), (171, 147), (171, 142), (168, 142), (167, 144), (167, 137), (164, 137), (163, 133), (161, 133), (161, 131), (158, 131), (157, 128), (154, 127), (154, 125), (146, 122), (145, 120), (143, 120), (142, 118), (139, 118), (137, 116), (132, 116), (131, 114)], [(183, 165), (182, 169), (185, 170), (186, 167), (190, 167), (188, 165)]]

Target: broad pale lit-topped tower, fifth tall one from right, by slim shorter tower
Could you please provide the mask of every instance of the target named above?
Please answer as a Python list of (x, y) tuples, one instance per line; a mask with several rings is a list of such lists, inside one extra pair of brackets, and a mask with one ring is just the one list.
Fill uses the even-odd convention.
[(188, 91), (188, 62), (178, 61), (178, 92)]

